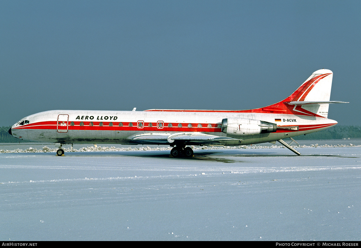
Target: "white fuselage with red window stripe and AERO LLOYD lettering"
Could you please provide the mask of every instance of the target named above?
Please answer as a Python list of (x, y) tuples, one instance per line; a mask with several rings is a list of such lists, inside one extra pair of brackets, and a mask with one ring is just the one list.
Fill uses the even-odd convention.
[[(248, 136), (234, 136), (222, 132), (222, 119), (247, 118), (277, 124), (277, 131)], [(336, 121), (324, 117), (265, 114), (236, 111), (90, 111), (52, 110), (30, 115), (13, 125), (13, 136), (42, 142), (106, 143), (106, 144), (160, 144), (157, 141), (137, 141), (134, 134), (173, 134), (177, 132), (205, 133), (238, 140), (219, 145), (248, 145), (277, 141), (282, 138), (312, 133)], [(161, 144), (169, 144), (162, 142)], [(191, 143), (188, 143), (191, 144)], [(211, 144), (211, 143), (210, 143)], [(195, 143), (197, 145), (197, 143)]]

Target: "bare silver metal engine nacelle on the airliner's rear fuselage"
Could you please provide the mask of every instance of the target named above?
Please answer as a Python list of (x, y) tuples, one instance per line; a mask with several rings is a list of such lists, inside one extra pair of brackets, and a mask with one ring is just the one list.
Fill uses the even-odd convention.
[(222, 120), (222, 132), (246, 136), (277, 131), (277, 124), (248, 118), (226, 118)]

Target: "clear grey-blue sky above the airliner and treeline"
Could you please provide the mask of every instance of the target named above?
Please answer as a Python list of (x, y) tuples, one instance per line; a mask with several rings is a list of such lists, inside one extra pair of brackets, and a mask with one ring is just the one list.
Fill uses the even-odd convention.
[[(360, 1), (1, 1), (0, 126), (36, 112), (243, 110), (334, 72), (360, 125)], [(6, 93), (4, 93), (6, 92)]]

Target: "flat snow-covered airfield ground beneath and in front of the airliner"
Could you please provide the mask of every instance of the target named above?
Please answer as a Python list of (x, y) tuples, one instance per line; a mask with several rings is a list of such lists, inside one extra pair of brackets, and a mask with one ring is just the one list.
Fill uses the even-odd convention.
[(360, 141), (311, 143), (0, 145), (0, 240), (361, 240)]

